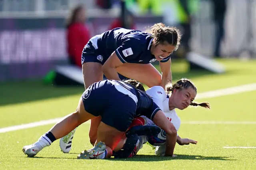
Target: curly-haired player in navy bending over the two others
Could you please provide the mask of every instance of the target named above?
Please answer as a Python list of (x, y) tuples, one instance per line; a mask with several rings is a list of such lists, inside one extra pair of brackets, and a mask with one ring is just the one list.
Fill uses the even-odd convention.
[[(148, 87), (165, 87), (172, 81), (170, 54), (178, 49), (180, 39), (177, 28), (162, 23), (154, 24), (146, 32), (115, 28), (92, 37), (82, 51), (85, 88), (102, 80), (103, 74), (107, 79), (120, 80), (118, 73)], [(162, 74), (151, 64), (154, 61), (160, 61)], [(92, 119), (90, 123), (89, 137), (92, 145), (96, 141), (95, 129), (99, 123), (100, 117)], [(60, 145), (68, 144), (75, 130), (62, 138)], [(68, 146), (71, 144), (64, 147)]]

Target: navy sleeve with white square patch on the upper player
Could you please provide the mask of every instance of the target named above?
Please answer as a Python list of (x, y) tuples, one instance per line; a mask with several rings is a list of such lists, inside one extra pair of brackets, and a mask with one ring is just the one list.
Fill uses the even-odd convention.
[(142, 50), (143, 47), (140, 45), (138, 39), (128, 38), (122, 42), (122, 45), (120, 45), (115, 52), (122, 63), (129, 63), (130, 60), (136, 59)]

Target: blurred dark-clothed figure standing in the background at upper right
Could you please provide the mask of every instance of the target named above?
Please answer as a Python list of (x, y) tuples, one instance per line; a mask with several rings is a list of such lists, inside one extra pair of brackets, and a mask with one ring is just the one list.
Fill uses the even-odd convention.
[(226, 15), (226, 0), (212, 0), (213, 2), (213, 15), (216, 29), (215, 36), (215, 49), (214, 49), (214, 57), (220, 57), (220, 44), (224, 39), (225, 27), (224, 20)]

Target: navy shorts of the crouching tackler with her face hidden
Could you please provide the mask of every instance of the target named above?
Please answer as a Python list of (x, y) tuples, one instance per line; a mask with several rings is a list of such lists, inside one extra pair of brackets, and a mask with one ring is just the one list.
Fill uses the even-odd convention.
[(84, 109), (101, 116), (102, 122), (125, 132), (136, 116), (137, 104), (132, 97), (122, 93), (108, 80), (92, 84), (82, 95)]

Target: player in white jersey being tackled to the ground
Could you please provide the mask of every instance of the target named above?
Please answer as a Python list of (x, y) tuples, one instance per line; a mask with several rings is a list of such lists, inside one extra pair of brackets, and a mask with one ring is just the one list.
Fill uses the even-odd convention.
[[(166, 93), (167, 91), (167, 93)], [(196, 97), (196, 87), (195, 85), (188, 79), (181, 79), (173, 86), (168, 85), (166, 87), (166, 91), (161, 86), (154, 86), (146, 91), (146, 93), (152, 97), (153, 101), (158, 105), (158, 107), (164, 112), (165, 116), (168, 120), (174, 125), (177, 132), (180, 128), (180, 118), (176, 114), (175, 108), (183, 110), (186, 109), (189, 105), (192, 106), (201, 106), (210, 109), (209, 103), (194, 103), (194, 98)], [(171, 95), (168, 93), (172, 91)], [(154, 125), (154, 123), (143, 117), (140, 119), (143, 122), (143, 125)], [(161, 130), (161, 132), (157, 135), (152, 136), (138, 136), (139, 140), (137, 146), (135, 146), (132, 156), (135, 156), (138, 150), (140, 150), (146, 142), (156, 147), (155, 153), (157, 155), (162, 155), (166, 150), (166, 132)], [(184, 144), (196, 144), (196, 140), (191, 140), (188, 138), (181, 138), (177, 133), (177, 143), (180, 145)], [(126, 148), (123, 148), (125, 150)], [(131, 157), (131, 155), (130, 155)]]

